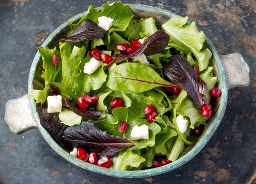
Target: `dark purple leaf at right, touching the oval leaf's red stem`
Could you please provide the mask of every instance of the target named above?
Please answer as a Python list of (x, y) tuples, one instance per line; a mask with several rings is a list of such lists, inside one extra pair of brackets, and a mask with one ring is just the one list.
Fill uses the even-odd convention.
[(187, 59), (182, 55), (173, 55), (167, 65), (163, 67), (164, 74), (172, 81), (186, 90), (188, 97), (201, 108), (207, 102), (204, 95), (207, 92), (206, 83), (197, 75)]

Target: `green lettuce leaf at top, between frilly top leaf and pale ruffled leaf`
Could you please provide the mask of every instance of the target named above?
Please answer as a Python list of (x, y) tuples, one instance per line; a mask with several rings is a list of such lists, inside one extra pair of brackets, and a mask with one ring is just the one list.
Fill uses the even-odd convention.
[(141, 18), (138, 22), (131, 21), (124, 33), (128, 35), (128, 40), (138, 40), (145, 36), (149, 37), (157, 31), (156, 21), (153, 17), (150, 17), (148, 19)]

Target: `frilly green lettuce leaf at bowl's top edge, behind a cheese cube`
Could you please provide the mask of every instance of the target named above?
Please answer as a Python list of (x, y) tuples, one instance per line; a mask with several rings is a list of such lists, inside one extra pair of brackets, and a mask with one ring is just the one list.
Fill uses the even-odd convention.
[(71, 29), (67, 34), (70, 35), (71, 33), (73, 33), (73, 31), (86, 19), (98, 24), (98, 17), (101, 16), (106, 16), (114, 19), (111, 28), (103, 37), (104, 44), (108, 45), (110, 42), (109, 34), (114, 31), (125, 31), (125, 29), (129, 25), (129, 21), (133, 18), (133, 13), (129, 5), (123, 5), (121, 2), (118, 1), (112, 3), (111, 5), (103, 4), (102, 11), (100, 12), (97, 8), (94, 8), (92, 5), (90, 5), (87, 13), (79, 20), (77, 24), (73, 24), (71, 21), (69, 21)]

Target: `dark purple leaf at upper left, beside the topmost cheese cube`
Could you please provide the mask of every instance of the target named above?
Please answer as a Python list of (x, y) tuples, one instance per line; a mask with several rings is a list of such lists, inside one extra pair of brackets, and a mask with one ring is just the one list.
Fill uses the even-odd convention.
[(105, 30), (102, 29), (98, 24), (90, 20), (85, 20), (80, 24), (77, 29), (74, 30), (67, 38), (60, 39), (59, 41), (67, 42), (81, 42), (84, 40), (101, 39)]

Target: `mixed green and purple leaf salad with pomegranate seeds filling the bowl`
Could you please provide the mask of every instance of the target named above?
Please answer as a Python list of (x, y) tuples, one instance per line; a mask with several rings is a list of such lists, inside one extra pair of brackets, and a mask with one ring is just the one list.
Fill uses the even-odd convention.
[[(99, 26), (103, 16), (113, 19), (107, 30)], [(101, 11), (90, 5), (69, 25), (59, 45), (38, 48), (42, 62), (30, 97), (39, 105), (41, 125), (68, 151), (91, 153), (90, 163), (104, 158), (103, 167), (110, 165), (106, 160), (118, 170), (177, 160), (211, 115), (217, 77), (203, 32), (187, 17), (162, 25), (152, 17), (133, 19), (120, 2), (103, 4)], [(98, 68), (88, 73), (92, 59)], [(49, 113), (48, 97), (57, 95), (62, 109)], [(132, 139), (135, 126), (148, 126), (148, 138)], [(88, 160), (83, 153), (75, 155)]]

